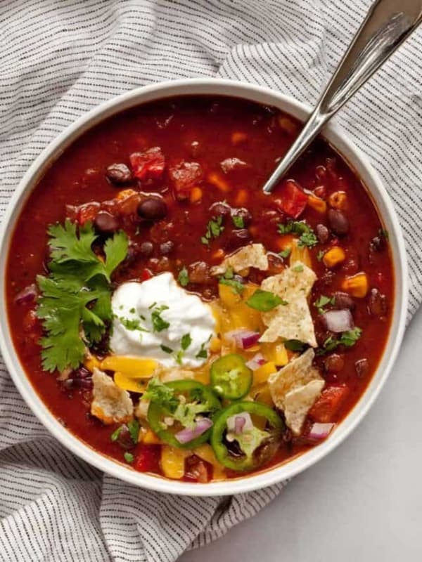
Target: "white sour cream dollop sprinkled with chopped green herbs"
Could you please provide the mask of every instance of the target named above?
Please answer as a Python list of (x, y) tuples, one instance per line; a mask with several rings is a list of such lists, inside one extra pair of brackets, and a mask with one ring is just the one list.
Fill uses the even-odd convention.
[(111, 306), (110, 349), (115, 355), (152, 357), (165, 367), (200, 367), (207, 360), (215, 333), (211, 308), (179, 287), (172, 273), (123, 283)]

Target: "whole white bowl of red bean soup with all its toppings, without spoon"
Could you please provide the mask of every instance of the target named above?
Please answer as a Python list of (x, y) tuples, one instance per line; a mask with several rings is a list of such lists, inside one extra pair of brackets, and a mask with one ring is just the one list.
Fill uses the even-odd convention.
[(252, 490), (362, 418), (406, 312), (397, 218), (334, 127), (271, 195), (306, 110), (228, 81), (94, 110), (6, 216), (2, 351), (34, 413), (147, 488)]

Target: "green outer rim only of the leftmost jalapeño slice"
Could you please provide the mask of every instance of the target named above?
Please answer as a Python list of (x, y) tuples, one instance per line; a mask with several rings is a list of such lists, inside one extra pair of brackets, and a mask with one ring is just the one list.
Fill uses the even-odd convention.
[[(210, 405), (214, 407), (215, 410), (219, 410), (222, 407), (219, 399), (212, 392), (211, 388), (198, 381), (172, 381), (165, 383), (165, 386), (169, 386), (170, 388), (173, 388), (174, 391), (179, 393), (190, 392), (192, 390), (198, 389), (202, 391), (205, 400), (207, 400), (207, 402), (210, 403)], [(150, 424), (151, 429), (154, 431), (154, 433), (156, 433), (158, 437), (165, 443), (168, 443), (173, 447), (178, 447), (179, 449), (194, 449), (195, 447), (198, 447), (198, 445), (205, 443), (205, 441), (210, 438), (212, 428), (207, 429), (207, 431), (205, 431), (202, 435), (196, 437), (195, 439), (192, 439), (191, 441), (188, 441), (188, 443), (180, 443), (179, 440), (174, 437), (174, 433), (172, 433), (168, 429), (162, 428), (161, 419), (163, 414), (166, 414), (166, 412), (163, 411), (161, 405), (151, 400), (147, 413), (148, 423)], [(170, 416), (171, 414), (168, 413), (167, 415)]]

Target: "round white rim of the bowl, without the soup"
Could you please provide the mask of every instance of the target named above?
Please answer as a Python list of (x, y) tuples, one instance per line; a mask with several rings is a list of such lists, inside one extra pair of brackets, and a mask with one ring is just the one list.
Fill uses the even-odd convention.
[(6, 314), (6, 287), (4, 272), (6, 270), (6, 258), (8, 247), (10, 244), (11, 233), (15, 222), (20, 214), (27, 196), (31, 192), (34, 185), (37, 184), (39, 178), (44, 174), (46, 167), (51, 165), (54, 160), (82, 133), (91, 129), (92, 126), (103, 121), (117, 112), (126, 110), (134, 105), (145, 103), (151, 100), (166, 98), (170, 96), (180, 96), (184, 94), (215, 94), (224, 96), (236, 96), (246, 98), (258, 103), (266, 105), (274, 105), (279, 109), (290, 113), (298, 119), (304, 120), (309, 115), (309, 106), (300, 103), (289, 96), (276, 93), (269, 89), (259, 86), (251, 86), (241, 82), (220, 80), (220, 79), (193, 79), (193, 80), (177, 80), (165, 82), (163, 84), (155, 84), (153, 86), (141, 87), (124, 93), (113, 100), (103, 103), (83, 115), (68, 129), (61, 133), (55, 141), (53, 141), (44, 150), (41, 155), (33, 162), (30, 169), (23, 177), (22, 181), (15, 190), (11, 202), (4, 216), (4, 221), (0, 232), (0, 271), (3, 275), (0, 277), (0, 349), (3, 354), (8, 371), (23, 396), (27, 405), (37, 416), (44, 426), (55, 436), (60, 443), (68, 447), (78, 457), (93, 464), (98, 469), (105, 471), (116, 478), (132, 483), (143, 488), (158, 490), (160, 492), (171, 492), (174, 494), (186, 495), (229, 495), (239, 492), (250, 492), (257, 488), (264, 488), (274, 483), (284, 481), (295, 474), (307, 469), (315, 462), (319, 461), (325, 455), (328, 455), (339, 443), (341, 443), (350, 432), (359, 424), (366, 412), (373, 404), (374, 400), (381, 391), (385, 380), (390, 374), (399, 351), (404, 333), (404, 322), (407, 312), (407, 259), (404, 249), (404, 241), (402, 232), (399, 227), (395, 209), (388, 193), (385, 191), (378, 174), (373, 170), (368, 159), (358, 150), (354, 144), (345, 138), (345, 133), (340, 131), (335, 124), (328, 124), (324, 130), (325, 138), (340, 152), (343, 157), (350, 163), (352, 168), (362, 178), (364, 185), (369, 191), (373, 202), (375, 202), (378, 211), (383, 218), (385, 228), (390, 235), (390, 247), (392, 251), (392, 261), (395, 271), (395, 300), (394, 310), (392, 311), (392, 324), (390, 334), (385, 346), (383, 357), (378, 368), (373, 374), (373, 378), (369, 386), (366, 388), (362, 398), (354, 406), (352, 411), (341, 422), (333, 434), (318, 447), (312, 448), (309, 452), (296, 457), (285, 464), (275, 466), (272, 469), (263, 471), (262, 473), (252, 474), (251, 476), (242, 476), (235, 480), (225, 482), (216, 482), (209, 484), (186, 483), (179, 481), (167, 480), (159, 476), (150, 476), (145, 473), (136, 472), (113, 459), (96, 452), (89, 445), (79, 440), (67, 431), (58, 420), (51, 414), (48, 407), (43, 403), (41, 398), (34, 391), (32, 384), (25, 375), (18, 355), (9, 333), (8, 320)]

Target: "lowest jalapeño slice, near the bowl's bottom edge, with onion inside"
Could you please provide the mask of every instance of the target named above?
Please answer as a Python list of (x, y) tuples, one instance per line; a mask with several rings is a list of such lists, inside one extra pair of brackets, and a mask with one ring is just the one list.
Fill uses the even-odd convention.
[[(241, 450), (243, 454), (235, 456), (231, 455), (229, 447), (226, 445), (227, 420), (243, 412), (248, 412), (248, 414), (253, 414), (257, 417), (263, 417), (267, 420), (267, 425), (270, 426), (270, 429), (269, 431), (262, 431), (254, 426), (252, 431), (243, 434), (243, 438), (250, 438), (250, 440), (255, 438), (257, 447), (250, 452), (249, 455), (244, 454), (243, 450)], [(212, 426), (211, 445), (218, 461), (228, 469), (248, 471), (256, 469), (274, 455), (276, 448), (279, 446), (283, 429), (283, 420), (279, 417), (279, 414), (271, 410), (269, 406), (257, 402), (236, 402), (224, 408), (224, 410), (220, 410), (215, 417), (214, 425)], [(264, 436), (264, 433), (267, 433), (268, 436)], [(234, 437), (234, 440), (238, 440), (241, 447), (241, 436), (237, 436), (236, 439), (235, 434), (232, 437)], [(224, 441), (226, 441), (226, 443)], [(264, 452), (264, 455), (255, 455), (256, 450), (261, 448), (261, 445), (264, 444), (268, 445), (267, 452)]]

